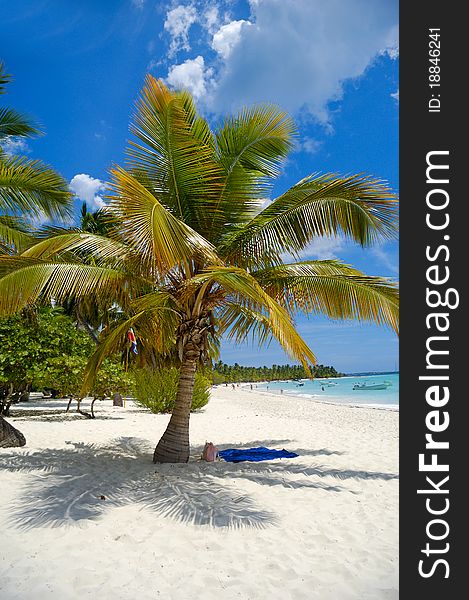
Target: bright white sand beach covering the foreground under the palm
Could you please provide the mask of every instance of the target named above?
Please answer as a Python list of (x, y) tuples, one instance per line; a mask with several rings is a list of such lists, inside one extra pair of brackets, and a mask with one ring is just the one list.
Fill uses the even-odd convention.
[[(96, 404), (10, 419), (27, 445), (0, 449), (2, 600), (398, 598), (397, 412), (222, 387), (193, 461), (153, 465), (168, 416)], [(206, 440), (299, 457), (197, 462)]]

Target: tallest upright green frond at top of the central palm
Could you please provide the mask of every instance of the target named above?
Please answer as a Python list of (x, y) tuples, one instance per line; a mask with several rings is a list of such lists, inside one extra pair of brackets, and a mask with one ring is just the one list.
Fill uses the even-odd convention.
[(140, 143), (128, 151), (135, 177), (173, 215), (202, 235), (222, 172), (207, 123), (187, 92), (170, 91), (148, 75), (131, 125)]

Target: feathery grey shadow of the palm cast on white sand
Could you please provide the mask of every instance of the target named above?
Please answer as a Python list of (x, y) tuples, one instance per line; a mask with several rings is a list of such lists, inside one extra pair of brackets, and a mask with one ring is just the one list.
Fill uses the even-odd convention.
[[(245, 447), (278, 447), (289, 441), (256, 441)], [(118, 438), (108, 445), (67, 444), (67, 448), (3, 454), (0, 469), (34, 472), (34, 479), (28, 481), (19, 504), (10, 514), (16, 526), (28, 529), (70, 525), (95, 520), (111, 506), (137, 504), (183, 523), (216, 528), (264, 528), (276, 525), (277, 516), (259, 507), (244, 491), (240, 492), (236, 487), (238, 479), (290, 489), (350, 492), (321, 478), (397, 478), (389, 473), (311, 467), (300, 464), (299, 459), (261, 463), (197, 462), (201, 447), (193, 448), (193, 460), (189, 464), (154, 465), (150, 462), (153, 448), (148, 440), (139, 438)], [(300, 450), (298, 454), (339, 453), (321, 449)]]

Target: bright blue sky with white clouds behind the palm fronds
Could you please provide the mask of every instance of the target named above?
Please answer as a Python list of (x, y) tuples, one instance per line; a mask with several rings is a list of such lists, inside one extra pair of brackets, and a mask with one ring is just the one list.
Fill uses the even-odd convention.
[[(3, 102), (46, 133), (9, 150), (53, 165), (77, 206), (102, 203), (148, 72), (187, 87), (213, 124), (256, 102), (288, 110), (299, 136), (274, 195), (317, 171), (372, 174), (398, 192), (397, 0), (3, 2), (0, 59), (14, 76)], [(319, 239), (305, 256), (398, 276), (397, 242), (362, 250)], [(319, 362), (341, 371), (397, 364), (390, 330), (303, 317), (298, 328)], [(224, 344), (222, 359), (288, 362), (275, 344)]]

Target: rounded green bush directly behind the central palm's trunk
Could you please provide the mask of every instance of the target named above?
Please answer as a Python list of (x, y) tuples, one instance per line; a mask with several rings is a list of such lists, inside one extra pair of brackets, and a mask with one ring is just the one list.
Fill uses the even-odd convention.
[[(174, 367), (135, 371), (135, 401), (153, 413), (168, 413), (176, 401), (179, 369)], [(211, 380), (201, 372), (195, 375), (191, 411), (205, 406), (210, 397)]]

